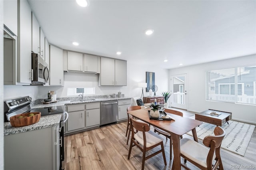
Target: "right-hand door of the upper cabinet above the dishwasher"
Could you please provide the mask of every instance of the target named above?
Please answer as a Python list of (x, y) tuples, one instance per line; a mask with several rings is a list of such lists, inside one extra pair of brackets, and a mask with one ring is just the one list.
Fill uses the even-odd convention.
[(115, 85), (127, 85), (127, 61), (115, 59)]

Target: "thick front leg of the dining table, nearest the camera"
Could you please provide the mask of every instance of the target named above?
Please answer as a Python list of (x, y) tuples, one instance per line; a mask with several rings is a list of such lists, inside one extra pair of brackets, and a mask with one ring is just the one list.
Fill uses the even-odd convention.
[(172, 170), (181, 170), (180, 162), (180, 135), (171, 133), (172, 135), (172, 146), (173, 146), (173, 162)]

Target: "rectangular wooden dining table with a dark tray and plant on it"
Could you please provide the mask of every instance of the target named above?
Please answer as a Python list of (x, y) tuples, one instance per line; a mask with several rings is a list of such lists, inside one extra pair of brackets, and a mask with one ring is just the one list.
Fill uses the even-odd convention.
[(171, 121), (153, 120), (149, 117), (148, 109), (138, 109), (134, 111), (128, 111), (127, 113), (132, 115), (132, 117), (136, 117), (137, 119), (140, 119), (154, 127), (160, 128), (172, 135), (172, 146), (174, 154), (172, 170), (181, 170), (180, 136), (192, 130), (193, 138), (196, 142), (198, 142), (196, 127), (201, 125), (202, 122), (171, 113), (166, 113), (172, 118)]

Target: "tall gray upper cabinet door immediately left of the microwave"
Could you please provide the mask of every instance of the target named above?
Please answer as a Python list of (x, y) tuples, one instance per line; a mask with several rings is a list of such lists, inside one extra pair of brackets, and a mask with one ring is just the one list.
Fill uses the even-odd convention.
[(28, 1), (18, 1), (18, 82), (31, 83), (31, 9)]

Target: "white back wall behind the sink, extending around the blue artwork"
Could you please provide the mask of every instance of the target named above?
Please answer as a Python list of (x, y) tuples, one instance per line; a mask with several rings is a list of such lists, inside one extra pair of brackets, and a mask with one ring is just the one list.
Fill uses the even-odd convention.
[[(155, 72), (155, 84), (158, 86), (156, 95), (168, 90), (168, 70), (150, 68), (143, 63), (127, 61), (127, 86), (98, 86), (98, 75), (93, 73), (64, 72), (64, 87), (39, 87), (38, 98), (46, 98), (49, 90), (57, 91), (57, 97), (67, 97), (68, 87), (95, 87), (95, 95), (117, 94), (121, 91), (127, 97), (140, 96), (142, 93), (138, 83), (146, 82), (146, 71)], [(148, 92), (144, 90), (144, 95)]]

